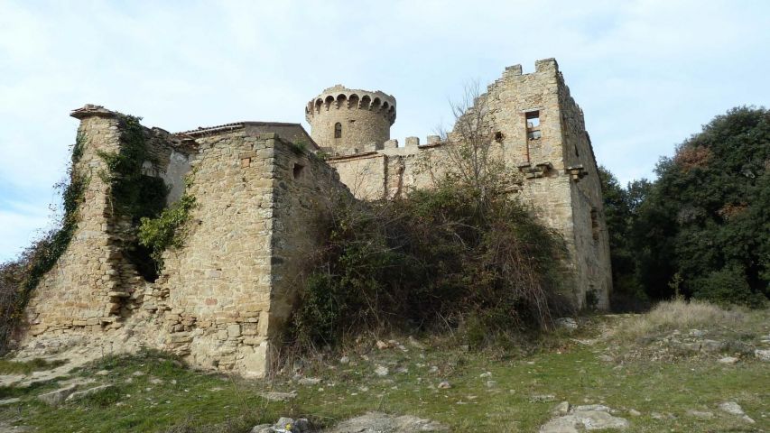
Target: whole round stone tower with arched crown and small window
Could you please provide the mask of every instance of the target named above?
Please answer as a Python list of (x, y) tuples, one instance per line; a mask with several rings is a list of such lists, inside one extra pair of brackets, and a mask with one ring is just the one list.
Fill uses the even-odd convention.
[(305, 107), (313, 140), (334, 155), (371, 152), (390, 140), (395, 98), (385, 93), (327, 88)]

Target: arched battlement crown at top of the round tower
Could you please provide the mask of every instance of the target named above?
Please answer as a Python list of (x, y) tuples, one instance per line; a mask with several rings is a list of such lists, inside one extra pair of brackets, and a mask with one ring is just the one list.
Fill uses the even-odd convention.
[(379, 90), (370, 92), (346, 88), (341, 84), (325, 88), (318, 97), (312, 98), (305, 107), (305, 118), (311, 122), (312, 117), (323, 111), (342, 108), (382, 113), (390, 124), (395, 122), (395, 97)]

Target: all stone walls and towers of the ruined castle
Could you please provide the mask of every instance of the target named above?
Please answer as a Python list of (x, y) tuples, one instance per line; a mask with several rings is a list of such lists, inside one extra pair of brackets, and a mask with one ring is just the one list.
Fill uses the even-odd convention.
[[(515, 196), (557, 229), (570, 252), (577, 307), (608, 305), (608, 235), (597, 164), (580, 107), (555, 60), (535, 72), (506, 69), (483, 96), (496, 151), (524, 176)], [(23, 351), (59, 350), (85, 341), (118, 350), (152, 347), (190, 364), (260, 376), (295, 307), (300, 279), (323, 242), (316, 225), (333, 194), (394, 198), (431, 188), (446, 164), (441, 143), (390, 140), (395, 99), (382, 92), (328, 88), (306, 106), (300, 124), (242, 122), (178, 134), (144, 129), (153, 155), (144, 174), (169, 187), (169, 202), (195, 198), (180, 248), (146, 281), (126, 257), (129, 222), (114, 211), (99, 152), (121, 146), (116, 113), (85, 106), (83, 157), (88, 177), (79, 226), (59, 263), (33, 292), (20, 330)], [(326, 161), (317, 153), (324, 152)], [(105, 343), (106, 344), (106, 343)]]

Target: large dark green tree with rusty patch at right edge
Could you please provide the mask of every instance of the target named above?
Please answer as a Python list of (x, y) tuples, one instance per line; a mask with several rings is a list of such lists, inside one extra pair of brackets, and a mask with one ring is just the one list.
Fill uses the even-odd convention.
[[(770, 281), (770, 112), (740, 106), (716, 116), (662, 158), (631, 238), (645, 290), (750, 305)], [(730, 289), (731, 288), (731, 289)], [(727, 292), (726, 292), (727, 290)]]

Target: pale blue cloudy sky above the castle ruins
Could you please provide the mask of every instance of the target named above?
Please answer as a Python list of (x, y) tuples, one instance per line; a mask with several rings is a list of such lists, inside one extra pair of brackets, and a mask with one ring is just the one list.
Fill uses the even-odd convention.
[(307, 101), (344, 84), (394, 95), (404, 143), (450, 126), (469, 81), (553, 57), (625, 184), (714, 115), (768, 106), (768, 47), (765, 1), (0, 0), (0, 262), (51, 226), (87, 103), (171, 132), (310, 131)]

